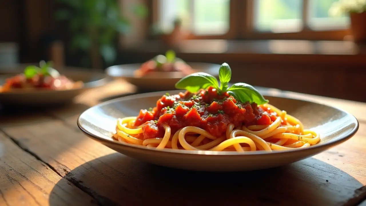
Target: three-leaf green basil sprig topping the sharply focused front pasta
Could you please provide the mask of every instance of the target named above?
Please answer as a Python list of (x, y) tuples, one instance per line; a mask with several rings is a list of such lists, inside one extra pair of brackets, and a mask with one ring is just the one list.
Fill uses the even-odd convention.
[(243, 103), (268, 103), (268, 100), (266, 100), (252, 85), (236, 83), (231, 85), (231, 87), (228, 87), (228, 83), (231, 79), (231, 68), (227, 63), (223, 63), (220, 66), (219, 79), (220, 84), (216, 77), (210, 74), (203, 72), (193, 73), (179, 80), (175, 84), (175, 88), (186, 89), (189, 92), (195, 93), (198, 92), (199, 89), (206, 89), (211, 86), (217, 89), (219, 93), (227, 92)]

